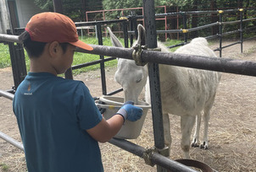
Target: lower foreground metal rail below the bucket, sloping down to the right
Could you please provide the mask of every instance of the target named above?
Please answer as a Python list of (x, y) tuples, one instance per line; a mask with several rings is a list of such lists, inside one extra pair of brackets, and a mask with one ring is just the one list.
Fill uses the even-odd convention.
[[(141, 146), (136, 145), (133, 142), (129, 142), (123, 139), (112, 138), (109, 142), (141, 158), (143, 158), (146, 153), (146, 148), (142, 148)], [(171, 169), (172, 172), (196, 172), (196, 170), (191, 169), (186, 165), (180, 164), (174, 160), (168, 159), (159, 153), (152, 153), (149, 158), (153, 164), (160, 165), (165, 169)]]

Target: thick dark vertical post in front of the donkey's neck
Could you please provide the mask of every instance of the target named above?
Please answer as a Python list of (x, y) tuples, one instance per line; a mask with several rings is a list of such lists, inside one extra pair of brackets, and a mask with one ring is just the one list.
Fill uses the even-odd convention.
[[(146, 41), (148, 48), (157, 47), (157, 32), (155, 26), (155, 8), (153, 0), (143, 0), (144, 21), (146, 30)], [(150, 83), (151, 108), (153, 117), (154, 144), (159, 151), (164, 149), (164, 126), (159, 83), (159, 64), (148, 63), (148, 76)], [(157, 166), (158, 172), (165, 172), (167, 169)]]

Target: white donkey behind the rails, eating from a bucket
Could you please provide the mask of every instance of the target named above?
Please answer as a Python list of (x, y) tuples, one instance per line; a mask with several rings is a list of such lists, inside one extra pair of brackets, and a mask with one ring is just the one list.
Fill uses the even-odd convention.
[[(113, 46), (122, 47), (120, 40), (108, 28)], [(145, 29), (138, 25), (138, 40), (135, 44), (145, 45)], [(162, 51), (169, 49), (158, 43)], [(196, 38), (186, 46), (181, 46), (175, 53), (216, 57), (214, 51), (209, 49), (204, 38)], [(145, 99), (150, 103), (149, 83), (147, 79), (147, 66), (136, 66), (132, 60), (118, 59), (118, 68), (114, 75), (115, 81), (124, 89), (125, 101), (138, 102), (138, 96), (146, 85)], [(201, 111), (204, 111), (203, 143), (200, 148), (208, 148), (209, 111), (214, 104), (216, 89), (220, 83), (220, 73), (159, 65), (160, 89), (164, 121), (164, 142), (170, 148), (170, 119), (168, 114), (181, 116), (181, 148), (184, 157), (189, 159), (192, 127), (197, 117), (196, 130), (192, 139), (192, 147), (198, 147)]]

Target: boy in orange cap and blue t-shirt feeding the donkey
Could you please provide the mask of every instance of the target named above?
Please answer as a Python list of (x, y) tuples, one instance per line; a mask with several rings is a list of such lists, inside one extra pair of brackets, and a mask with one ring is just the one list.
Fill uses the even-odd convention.
[(60, 13), (38, 13), (19, 36), (31, 70), (14, 96), (14, 114), (29, 172), (103, 171), (97, 142), (107, 142), (142, 109), (126, 103), (106, 121), (80, 81), (57, 77), (71, 67), (78, 40), (74, 22)]

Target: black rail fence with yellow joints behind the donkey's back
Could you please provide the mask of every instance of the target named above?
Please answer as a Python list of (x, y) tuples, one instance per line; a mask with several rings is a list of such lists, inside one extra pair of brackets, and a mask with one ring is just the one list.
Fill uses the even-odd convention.
[[(192, 12), (179, 12), (179, 13), (158, 13), (156, 14), (156, 18), (160, 18), (160, 17), (164, 17), (164, 16), (181, 16), (181, 18), (183, 19), (183, 29), (180, 30), (157, 30), (158, 34), (181, 34), (184, 37), (184, 41), (181, 44), (178, 45), (173, 45), (173, 46), (168, 46), (169, 48), (174, 48), (177, 46), (183, 46), (186, 45), (186, 43), (188, 43), (188, 35), (192, 32), (198, 31), (198, 30), (204, 30), (204, 29), (208, 29), (208, 28), (213, 28), (214, 26), (218, 26), (219, 27), (219, 32), (216, 35), (208, 35), (205, 38), (206, 39), (219, 39), (220, 41), (220, 47), (215, 49), (214, 51), (220, 51), (220, 56), (222, 56), (222, 50), (229, 47), (229, 46), (234, 46), (237, 44), (241, 44), (241, 52), (242, 52), (242, 42), (246, 41), (246, 40), (250, 40), (253, 39), (255, 36), (249, 37), (248, 39), (244, 39), (243, 38), (243, 34), (245, 32), (248, 31), (254, 31), (255, 35), (256, 35), (256, 26), (250, 26), (250, 27), (246, 27), (246, 23), (248, 22), (252, 22), (256, 20), (256, 16), (252, 16), (252, 18), (250, 19), (244, 19), (243, 18), (243, 13), (245, 11), (250, 11), (250, 12), (254, 12), (255, 8), (236, 8), (236, 9), (226, 9), (226, 10), (216, 10), (216, 11), (192, 11)], [(216, 21), (214, 23), (211, 24), (205, 24), (205, 25), (201, 25), (198, 26), (196, 28), (189, 28), (187, 19), (193, 15), (193, 14), (218, 14), (219, 15), (219, 21)], [(224, 17), (225, 15), (229, 14), (229, 13), (236, 13), (237, 20), (234, 21), (224, 21)], [(204, 16), (205, 17), (205, 16)], [(142, 19), (143, 16), (133, 16), (132, 19)], [(230, 31), (225, 31), (224, 27), (225, 25), (233, 25), (233, 24), (238, 24), (239, 25), (239, 29), (238, 30), (230, 30)], [(130, 32), (131, 34), (134, 34), (134, 32)], [(232, 43), (231, 45), (227, 45), (227, 46), (222, 46), (222, 39), (227, 36), (227, 35), (234, 35), (234, 34), (238, 34), (239, 35), (239, 41)], [(165, 36), (166, 39), (166, 36)]]

